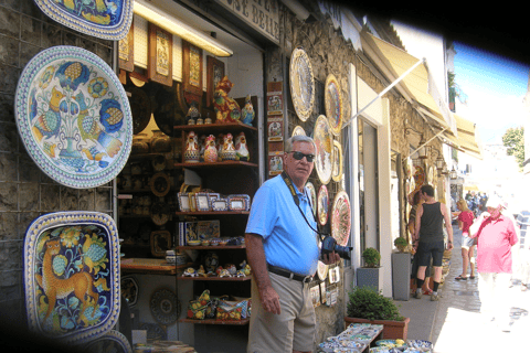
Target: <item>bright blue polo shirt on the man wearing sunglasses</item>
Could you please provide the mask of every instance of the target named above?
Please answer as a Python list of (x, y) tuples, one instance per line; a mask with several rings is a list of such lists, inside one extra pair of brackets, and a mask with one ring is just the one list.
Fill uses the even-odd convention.
[[(317, 229), (307, 193), (296, 193), (307, 221)], [(282, 175), (267, 180), (257, 190), (245, 233), (263, 237), (269, 265), (303, 276), (315, 275), (320, 255), (317, 235), (304, 221)]]

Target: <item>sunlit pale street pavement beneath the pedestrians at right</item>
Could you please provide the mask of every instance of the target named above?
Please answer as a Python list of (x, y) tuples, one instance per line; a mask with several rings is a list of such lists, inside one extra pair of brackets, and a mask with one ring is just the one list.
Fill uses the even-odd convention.
[(462, 233), (456, 226), (453, 229), (455, 248), (432, 331), (434, 352), (530, 352), (530, 291), (521, 291), (520, 282), (512, 281), (506, 298), (511, 302), (510, 332), (502, 332), (495, 321), (483, 320), (478, 277), (473, 280), (455, 280), (462, 272)]

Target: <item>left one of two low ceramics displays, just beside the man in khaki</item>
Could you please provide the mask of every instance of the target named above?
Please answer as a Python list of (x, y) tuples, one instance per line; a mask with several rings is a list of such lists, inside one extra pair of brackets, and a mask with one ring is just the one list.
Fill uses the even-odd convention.
[[(318, 352), (337, 352), (338, 349), (348, 352), (370, 352), (372, 342), (381, 339), (382, 324), (351, 323), (336, 336), (326, 339), (318, 345)], [(341, 351), (342, 352), (342, 351)]]

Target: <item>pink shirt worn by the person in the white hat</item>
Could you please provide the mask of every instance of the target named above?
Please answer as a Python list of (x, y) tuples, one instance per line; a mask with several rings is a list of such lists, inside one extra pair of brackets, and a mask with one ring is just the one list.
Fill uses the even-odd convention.
[(513, 222), (505, 215), (496, 221), (487, 217), (477, 232), (477, 238), (478, 271), (511, 274), (511, 246), (519, 240)]

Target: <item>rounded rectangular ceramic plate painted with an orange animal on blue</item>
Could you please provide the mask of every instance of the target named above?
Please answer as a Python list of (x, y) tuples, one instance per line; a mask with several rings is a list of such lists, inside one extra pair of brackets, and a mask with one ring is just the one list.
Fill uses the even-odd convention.
[(46, 338), (86, 343), (107, 333), (119, 314), (119, 238), (98, 212), (35, 218), (24, 239), (28, 325)]

